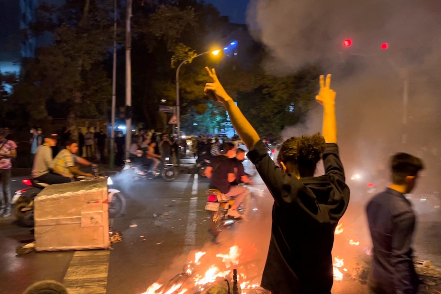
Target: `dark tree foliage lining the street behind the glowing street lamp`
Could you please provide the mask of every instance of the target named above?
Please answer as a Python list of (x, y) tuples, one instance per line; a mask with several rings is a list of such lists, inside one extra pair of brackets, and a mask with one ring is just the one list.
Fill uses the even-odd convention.
[[(118, 0), (117, 106), (125, 105), (125, 3)], [(67, 0), (60, 7), (43, 3), (32, 32), (52, 41), (38, 48), (35, 58), (23, 61), (14, 93), (2, 108), (20, 111), (30, 124), (51, 117), (69, 118), (72, 124), (76, 117), (109, 118), (113, 9), (113, 0)], [(177, 66), (186, 60), (179, 75), (183, 129), (211, 131), (226, 121), (221, 105), (203, 95), (209, 81), (206, 65), (216, 67), (227, 92), (262, 136), (301, 121), (314, 101), (317, 66), (287, 77), (268, 75), (260, 66), (265, 52), (258, 43), (241, 52), (250, 65), (234, 57), (195, 58), (212, 45), (231, 41), (229, 34), (235, 29), (212, 5), (134, 0), (131, 28), (134, 121), (148, 128), (171, 130), (170, 115), (158, 112), (158, 107), (176, 104)]]

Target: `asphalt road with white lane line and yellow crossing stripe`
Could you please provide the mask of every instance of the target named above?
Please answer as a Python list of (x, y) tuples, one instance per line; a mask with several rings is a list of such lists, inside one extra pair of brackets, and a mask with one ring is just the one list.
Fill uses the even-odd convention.
[[(217, 265), (238, 268), (239, 274), (246, 274), (239, 281), (258, 284), (268, 249), (272, 206), (261, 180), (255, 180), (250, 221), (235, 224), (214, 240), (207, 231), (209, 219), (204, 210), (206, 179), (193, 174), (180, 174), (173, 182), (113, 178), (127, 199), (125, 216), (111, 224), (123, 235), (113, 250), (16, 255), (15, 247), (31, 241), (33, 235), (28, 228), (18, 227), (12, 217), (0, 219), (0, 293), (20, 294), (36, 281), (56, 280), (69, 285), (71, 294), (141, 294), (151, 284), (167, 283), (182, 273), (196, 252), (205, 255), (199, 264), (191, 263), (193, 278)], [(20, 178), (13, 180), (13, 189), (17, 189)], [(336, 235), (333, 255), (345, 260), (343, 267), (348, 272), (334, 283), (334, 294), (367, 293), (352, 270), (354, 259), (366, 255), (370, 246), (361, 209), (355, 198), (342, 219), (343, 233)], [(423, 220), (415, 238), (418, 256), (437, 266), (441, 266), (440, 228), (437, 217)], [(351, 245), (349, 240), (359, 244)], [(233, 253), (231, 247), (237, 248), (238, 257), (225, 260)]]

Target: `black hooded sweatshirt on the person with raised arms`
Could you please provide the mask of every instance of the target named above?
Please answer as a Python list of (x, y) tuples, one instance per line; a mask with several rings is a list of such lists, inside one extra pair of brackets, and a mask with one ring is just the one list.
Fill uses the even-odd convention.
[(261, 286), (277, 294), (330, 294), (334, 232), (349, 203), (337, 144), (326, 144), (325, 175), (318, 177), (285, 174), (261, 141), (247, 156), (274, 198)]

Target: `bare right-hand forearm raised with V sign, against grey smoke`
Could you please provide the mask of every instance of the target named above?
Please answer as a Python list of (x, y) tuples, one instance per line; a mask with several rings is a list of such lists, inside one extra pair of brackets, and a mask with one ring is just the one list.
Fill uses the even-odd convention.
[(323, 105), (322, 134), (326, 143), (337, 143), (337, 119), (335, 115), (336, 93), (330, 88), (331, 75), (320, 76), (320, 92), (316, 96), (317, 102)]

